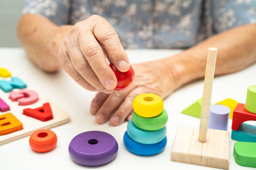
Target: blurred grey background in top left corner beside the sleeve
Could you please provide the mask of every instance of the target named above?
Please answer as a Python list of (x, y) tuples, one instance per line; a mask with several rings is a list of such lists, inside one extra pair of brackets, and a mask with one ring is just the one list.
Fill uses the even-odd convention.
[(0, 47), (20, 47), (16, 36), (23, 0), (0, 0)]

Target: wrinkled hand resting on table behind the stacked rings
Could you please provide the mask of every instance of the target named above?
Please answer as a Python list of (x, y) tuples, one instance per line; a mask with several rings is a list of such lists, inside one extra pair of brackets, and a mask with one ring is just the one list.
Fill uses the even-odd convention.
[[(132, 102), (143, 93), (153, 93), (164, 98), (175, 89), (175, 78), (161, 60), (132, 65), (135, 73), (131, 87), (111, 94), (99, 92), (92, 101), (91, 113), (98, 124), (110, 119), (111, 125), (120, 125), (132, 115)], [(115, 111), (116, 110), (116, 111)], [(112, 115), (112, 113), (115, 113)]]

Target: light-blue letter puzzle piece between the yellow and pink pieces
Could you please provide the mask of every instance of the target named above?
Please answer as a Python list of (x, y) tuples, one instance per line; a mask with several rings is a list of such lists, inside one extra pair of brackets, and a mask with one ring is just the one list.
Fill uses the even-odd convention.
[(0, 89), (4, 92), (12, 92), (13, 89), (24, 89), (27, 85), (17, 77), (12, 77), (11, 81), (0, 80)]

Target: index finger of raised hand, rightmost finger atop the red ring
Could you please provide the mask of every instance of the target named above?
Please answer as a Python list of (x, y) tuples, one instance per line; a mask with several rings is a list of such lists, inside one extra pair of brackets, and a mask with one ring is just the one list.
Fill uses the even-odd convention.
[(115, 29), (107, 20), (102, 17), (98, 17), (98, 20), (100, 20), (100, 22), (97, 22), (94, 27), (92, 27), (92, 32), (95, 35), (95, 38), (102, 46), (104, 46), (114, 66), (119, 71), (128, 71), (131, 65), (120, 39), (118, 38), (118, 34), (116, 34)]

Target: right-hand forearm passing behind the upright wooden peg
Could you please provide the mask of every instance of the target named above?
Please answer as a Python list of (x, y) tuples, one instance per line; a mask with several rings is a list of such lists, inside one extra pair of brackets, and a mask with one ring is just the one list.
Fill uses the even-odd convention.
[(163, 59), (175, 76), (176, 87), (204, 77), (207, 49), (218, 48), (216, 75), (239, 71), (256, 62), (256, 25), (243, 25), (217, 34), (178, 55)]

